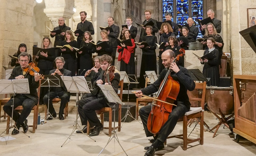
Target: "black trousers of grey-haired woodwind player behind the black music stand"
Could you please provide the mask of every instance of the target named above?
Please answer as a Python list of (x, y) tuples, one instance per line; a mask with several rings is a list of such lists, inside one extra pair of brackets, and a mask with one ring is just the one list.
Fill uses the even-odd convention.
[[(49, 96), (49, 92), (47, 92), (44, 97), (43, 97), (43, 102), (45, 103), (45, 105), (48, 108), (48, 96)], [(50, 90), (50, 96), (49, 96), (49, 112), (51, 114), (56, 114), (56, 111), (53, 107), (53, 99), (58, 96), (61, 101), (60, 101), (60, 107), (59, 107), (59, 115), (60, 114), (64, 114), (64, 108), (67, 104), (67, 102), (69, 102), (69, 93), (66, 91), (61, 91), (61, 90)]]

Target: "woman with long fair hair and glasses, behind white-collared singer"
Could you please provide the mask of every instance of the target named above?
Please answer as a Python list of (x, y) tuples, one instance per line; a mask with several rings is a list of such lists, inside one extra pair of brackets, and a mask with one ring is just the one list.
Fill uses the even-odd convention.
[[(203, 36), (203, 38), (209, 38), (209, 37), (212, 37), (214, 38), (214, 47), (219, 51), (219, 60), (221, 60), (221, 56), (223, 54), (223, 46), (224, 46), (224, 43), (223, 43), (223, 40), (222, 40), (222, 37), (217, 33), (217, 30), (214, 26), (214, 24), (212, 23), (208, 23), (206, 25), (207, 29), (205, 29), (205, 34)], [(208, 46), (206, 46), (206, 42), (202, 42), (203, 43), (203, 47), (204, 47), (204, 50), (208, 49)], [(221, 64), (221, 62), (219, 62), (219, 64)]]

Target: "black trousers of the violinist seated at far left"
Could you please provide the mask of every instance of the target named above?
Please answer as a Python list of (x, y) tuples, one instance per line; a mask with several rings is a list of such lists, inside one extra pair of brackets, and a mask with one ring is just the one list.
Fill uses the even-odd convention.
[[(12, 103), (13, 99), (11, 98), (3, 107), (3, 110), (11, 117), (12, 113)], [(13, 107), (13, 117), (12, 119), (17, 123), (17, 124), (22, 124), (28, 115), (30, 114), (32, 108), (36, 105), (35, 101), (26, 97), (24, 94), (17, 94), (14, 96), (14, 107)], [(21, 114), (15, 110), (18, 106), (23, 106), (23, 110)]]

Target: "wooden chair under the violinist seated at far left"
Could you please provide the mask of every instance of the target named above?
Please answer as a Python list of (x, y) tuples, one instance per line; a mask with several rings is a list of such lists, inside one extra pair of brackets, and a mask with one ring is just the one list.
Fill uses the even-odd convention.
[[(39, 79), (39, 87), (38, 87), (38, 98), (40, 98), (40, 85), (41, 85), (41, 79)], [(8, 98), (8, 101), (10, 100), (10, 98)], [(8, 102), (6, 101), (6, 102)], [(3, 101), (1, 100), (1, 102), (3, 103)], [(37, 129), (37, 121), (38, 121), (38, 108), (39, 108), (39, 100), (38, 100), (38, 104), (35, 105), (32, 110), (34, 110), (34, 117), (33, 117), (33, 125), (28, 125), (28, 127), (33, 127), (32, 133), (36, 132)], [(23, 106), (18, 106), (17, 108), (15, 108), (15, 110), (21, 112), (23, 110)], [(6, 134), (9, 134), (9, 127), (10, 127), (10, 116), (7, 117), (7, 131)]]

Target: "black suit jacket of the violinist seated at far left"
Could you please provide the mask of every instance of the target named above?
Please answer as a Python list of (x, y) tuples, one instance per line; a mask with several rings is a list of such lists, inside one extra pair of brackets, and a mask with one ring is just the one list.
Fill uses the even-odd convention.
[[(19, 76), (19, 75), (23, 75), (22, 72), (22, 68), (21, 66), (17, 66), (14, 67), (11, 73), (11, 76), (9, 77), (9, 79), (15, 79), (15, 77)], [(27, 75), (26, 77), (28, 79), (28, 85), (29, 85), (29, 94), (24, 94), (26, 97), (32, 99), (33, 101), (35, 101), (35, 103), (38, 103), (38, 95), (37, 95), (37, 88), (39, 87), (39, 81), (36, 82), (35, 81), (35, 77), (31, 76), (31, 75)]]

